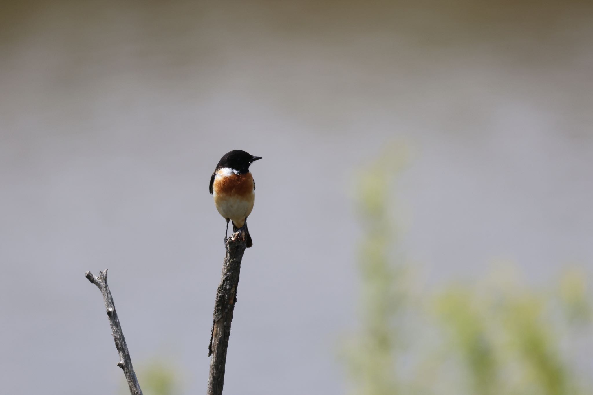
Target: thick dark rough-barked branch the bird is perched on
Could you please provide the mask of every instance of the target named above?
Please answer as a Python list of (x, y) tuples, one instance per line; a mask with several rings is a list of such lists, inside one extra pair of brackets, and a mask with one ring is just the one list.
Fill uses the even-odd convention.
[(222, 278), (216, 290), (216, 301), (208, 357), (210, 359), (210, 375), (208, 378), (208, 395), (222, 395), (224, 384), (225, 362), (227, 361), (228, 338), (231, 335), (232, 312), (237, 303), (237, 285), (241, 259), (245, 252), (245, 235), (239, 231), (227, 239), (227, 253), (222, 265)]

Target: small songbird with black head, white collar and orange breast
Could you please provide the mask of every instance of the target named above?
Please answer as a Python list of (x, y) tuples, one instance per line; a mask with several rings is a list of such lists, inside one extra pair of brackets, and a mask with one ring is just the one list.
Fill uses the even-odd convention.
[(232, 150), (222, 156), (210, 178), (210, 193), (214, 196), (216, 210), (227, 220), (225, 243), (228, 221), (231, 220), (233, 232), (237, 232), (237, 229), (245, 230), (247, 248), (253, 245), (247, 230), (247, 217), (253, 210), (256, 183), (249, 172), (249, 166), (258, 159), (262, 157), (240, 149)]

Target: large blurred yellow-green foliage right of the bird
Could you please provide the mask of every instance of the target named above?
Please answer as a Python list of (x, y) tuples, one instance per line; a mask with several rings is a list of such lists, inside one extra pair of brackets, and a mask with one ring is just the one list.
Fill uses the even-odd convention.
[[(592, 394), (579, 370), (591, 303), (576, 268), (534, 288), (509, 267), (471, 284), (417, 289), (397, 246), (393, 178), (406, 150), (385, 150), (359, 177), (360, 326), (346, 343), (352, 394)], [(393, 181), (393, 180), (392, 180)]]

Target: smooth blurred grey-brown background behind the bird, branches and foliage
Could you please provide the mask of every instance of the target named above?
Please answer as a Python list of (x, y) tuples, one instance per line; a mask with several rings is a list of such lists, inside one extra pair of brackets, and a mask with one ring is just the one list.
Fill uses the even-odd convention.
[(135, 365), (205, 390), (225, 226), (207, 184), (231, 149), (264, 159), (225, 393), (345, 393), (352, 175), (394, 141), (401, 244), (429, 284), (497, 260), (533, 284), (592, 274), (591, 2), (1, 7), (4, 394), (121, 391), (84, 278), (104, 268)]

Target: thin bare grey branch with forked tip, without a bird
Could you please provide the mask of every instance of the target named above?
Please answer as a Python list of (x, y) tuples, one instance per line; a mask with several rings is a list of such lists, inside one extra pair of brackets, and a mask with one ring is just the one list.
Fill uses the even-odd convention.
[(130, 352), (127, 351), (127, 344), (126, 339), (123, 337), (122, 326), (117, 318), (117, 312), (115, 311), (115, 305), (113, 304), (113, 297), (111, 297), (111, 291), (109, 290), (109, 286), (107, 286), (107, 269), (100, 271), (98, 277), (95, 277), (91, 272), (87, 272), (86, 277), (88, 278), (88, 281), (97, 285), (101, 294), (103, 294), (105, 309), (107, 310), (107, 317), (109, 318), (109, 325), (111, 326), (111, 333), (113, 334), (117, 352), (119, 352), (119, 362), (117, 362), (117, 366), (122, 368), (123, 374), (126, 376), (127, 385), (130, 387), (130, 394), (142, 395), (140, 384), (138, 384), (136, 373), (132, 367)]

